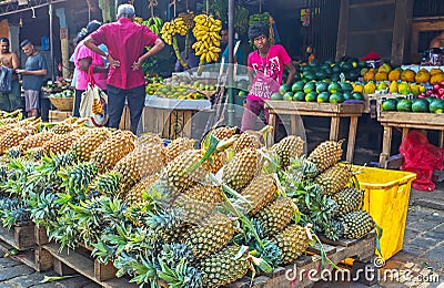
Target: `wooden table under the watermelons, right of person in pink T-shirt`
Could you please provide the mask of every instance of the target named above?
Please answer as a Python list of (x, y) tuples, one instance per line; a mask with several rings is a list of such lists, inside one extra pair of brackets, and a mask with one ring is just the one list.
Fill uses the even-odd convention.
[[(296, 115), (331, 117), (330, 140), (337, 141), (342, 117), (350, 117), (346, 161), (353, 162), (356, 141), (357, 117), (363, 113), (363, 104), (333, 104), (317, 102), (265, 101), (264, 107), (270, 113), (270, 125), (276, 124), (276, 115), (291, 115), (291, 134), (296, 134)], [(273, 137), (269, 137), (273, 140)]]

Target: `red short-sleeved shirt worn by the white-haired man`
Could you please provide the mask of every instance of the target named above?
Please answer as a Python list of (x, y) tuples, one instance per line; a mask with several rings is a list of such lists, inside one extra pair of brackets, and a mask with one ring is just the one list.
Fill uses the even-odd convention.
[(142, 69), (133, 71), (131, 65), (143, 55), (145, 47), (154, 45), (159, 38), (145, 25), (137, 24), (128, 18), (104, 24), (91, 34), (95, 44), (105, 44), (109, 54), (120, 61), (120, 66), (110, 68), (107, 83), (119, 89), (144, 85)]

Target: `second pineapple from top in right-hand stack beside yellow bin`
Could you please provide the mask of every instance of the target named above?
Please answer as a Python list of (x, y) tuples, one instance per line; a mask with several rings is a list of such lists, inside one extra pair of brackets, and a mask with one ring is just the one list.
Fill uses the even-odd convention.
[(323, 194), (333, 195), (345, 188), (352, 176), (353, 173), (347, 166), (332, 166), (317, 175), (314, 183), (321, 186)]

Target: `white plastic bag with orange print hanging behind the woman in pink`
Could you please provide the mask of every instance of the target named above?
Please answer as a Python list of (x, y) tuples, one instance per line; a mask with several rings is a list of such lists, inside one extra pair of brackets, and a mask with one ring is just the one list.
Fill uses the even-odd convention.
[(108, 95), (95, 84), (92, 65), (88, 71), (88, 86), (82, 93), (80, 116), (88, 119), (89, 126), (103, 126), (108, 122)]

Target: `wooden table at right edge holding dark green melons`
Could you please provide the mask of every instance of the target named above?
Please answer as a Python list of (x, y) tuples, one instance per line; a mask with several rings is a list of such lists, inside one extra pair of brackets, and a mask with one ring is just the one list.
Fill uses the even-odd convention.
[(386, 168), (392, 147), (393, 127), (402, 128), (402, 138), (408, 134), (410, 128), (440, 131), (440, 147), (444, 145), (444, 114), (413, 113), (413, 112), (385, 112), (381, 111), (377, 121), (384, 126), (380, 167)]

